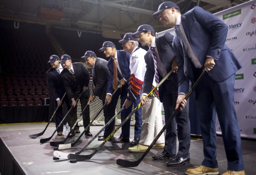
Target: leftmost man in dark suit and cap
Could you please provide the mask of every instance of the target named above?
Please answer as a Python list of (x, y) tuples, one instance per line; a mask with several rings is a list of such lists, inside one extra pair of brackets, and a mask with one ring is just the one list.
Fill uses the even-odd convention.
[[(58, 110), (55, 113), (55, 126), (56, 128), (59, 126), (59, 123), (63, 119), (62, 115), (62, 104), (63, 101), (65, 101), (67, 107), (69, 108), (69, 100), (68, 97), (64, 97), (62, 104), (60, 103), (60, 99), (62, 99), (63, 95), (65, 94), (65, 88), (63, 86), (62, 79), (60, 77), (60, 73), (63, 70), (62, 65), (59, 63), (59, 57), (57, 55), (52, 55), (48, 61), (48, 63), (51, 64), (51, 67), (46, 72), (47, 82), (49, 86), (49, 90), (51, 92), (52, 97), (54, 100), (54, 110), (59, 106)], [(60, 125), (60, 127), (57, 129), (57, 135), (62, 135), (63, 132), (63, 123)]]

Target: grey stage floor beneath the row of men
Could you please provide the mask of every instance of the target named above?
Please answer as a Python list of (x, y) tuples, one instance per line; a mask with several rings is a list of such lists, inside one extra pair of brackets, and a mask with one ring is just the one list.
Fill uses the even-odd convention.
[[(28, 175), (43, 174), (75, 174), (75, 175), (185, 175), (185, 171), (191, 167), (201, 164), (203, 160), (202, 140), (191, 140), (190, 163), (181, 166), (167, 166), (165, 160), (153, 160), (152, 156), (158, 155), (163, 149), (151, 149), (146, 157), (137, 167), (122, 167), (116, 164), (117, 159), (137, 160), (142, 153), (130, 153), (129, 143), (107, 142), (90, 160), (70, 163), (68, 159), (53, 160), (53, 147), (49, 142), (61, 141), (66, 137), (55, 134), (49, 142), (40, 144), (41, 138), (50, 137), (53, 134), (55, 123), (50, 123), (45, 133), (35, 139), (30, 139), (29, 134), (37, 134), (44, 130), (47, 123), (22, 124), (22, 125), (2, 125), (0, 126), (0, 138), (8, 147), (17, 163)], [(102, 126), (91, 126), (90, 132), (95, 135)], [(64, 128), (65, 130), (65, 128)], [(63, 131), (64, 131), (63, 130)], [(83, 127), (80, 127), (83, 131)], [(114, 135), (119, 137), (121, 129)], [(134, 129), (130, 129), (133, 140)], [(76, 134), (75, 138), (79, 137)], [(68, 138), (66, 143), (71, 143), (75, 138)], [(60, 150), (62, 152), (73, 153), (79, 151), (93, 137), (81, 137), (81, 140), (71, 149)], [(97, 138), (81, 153), (81, 155), (91, 154), (102, 141)], [(222, 142), (222, 137), (217, 137), (217, 160), (219, 173), (222, 174), (227, 169), (227, 160)], [(1, 145), (3, 146), (3, 145)], [(177, 144), (178, 147), (178, 144)], [(246, 175), (255, 175), (256, 172), (256, 141), (242, 139), (243, 160)]]

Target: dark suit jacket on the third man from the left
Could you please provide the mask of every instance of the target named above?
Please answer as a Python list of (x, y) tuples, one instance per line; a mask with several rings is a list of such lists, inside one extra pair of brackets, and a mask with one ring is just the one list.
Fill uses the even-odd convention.
[(93, 83), (95, 90), (94, 96), (99, 97), (101, 100), (105, 100), (106, 89), (109, 81), (109, 69), (107, 66), (108, 61), (97, 58), (94, 64)]

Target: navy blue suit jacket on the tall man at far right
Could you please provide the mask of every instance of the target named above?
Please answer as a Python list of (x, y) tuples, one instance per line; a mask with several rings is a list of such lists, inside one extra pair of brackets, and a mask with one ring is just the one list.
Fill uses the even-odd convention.
[[(188, 42), (201, 65), (204, 66), (206, 56), (217, 59), (214, 68), (207, 72), (214, 81), (222, 82), (242, 67), (225, 44), (228, 26), (223, 21), (198, 6), (181, 15), (181, 19)], [(187, 93), (189, 76), (184, 74), (183, 50), (176, 35), (172, 46), (179, 53), (179, 93)]]

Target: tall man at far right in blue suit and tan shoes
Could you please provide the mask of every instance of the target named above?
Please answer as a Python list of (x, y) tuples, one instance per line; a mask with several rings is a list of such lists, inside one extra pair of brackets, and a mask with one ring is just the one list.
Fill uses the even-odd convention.
[(228, 167), (222, 175), (244, 175), (240, 130), (234, 109), (235, 73), (241, 64), (225, 45), (228, 27), (216, 16), (196, 6), (184, 15), (173, 2), (159, 5), (153, 14), (165, 27), (174, 27), (173, 48), (179, 54), (179, 96), (176, 108), (184, 109), (189, 80), (194, 83), (208, 71), (196, 88), (196, 104), (203, 138), (204, 160), (186, 174), (218, 174), (215, 109), (221, 125)]

